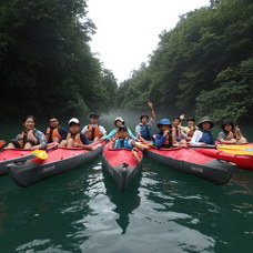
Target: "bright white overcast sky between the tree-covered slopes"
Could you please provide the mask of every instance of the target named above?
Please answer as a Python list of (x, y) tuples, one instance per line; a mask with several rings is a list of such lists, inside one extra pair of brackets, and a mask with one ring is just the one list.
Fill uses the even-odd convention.
[(88, 0), (97, 27), (91, 51), (120, 83), (148, 62), (159, 34), (173, 29), (179, 16), (203, 6), (209, 0)]

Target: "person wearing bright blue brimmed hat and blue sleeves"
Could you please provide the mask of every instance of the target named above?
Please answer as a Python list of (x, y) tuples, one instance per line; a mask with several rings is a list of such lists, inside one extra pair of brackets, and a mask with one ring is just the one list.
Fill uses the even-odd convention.
[(172, 146), (176, 143), (175, 131), (172, 130), (172, 123), (169, 119), (162, 119), (158, 123), (159, 133), (155, 134), (155, 146)]

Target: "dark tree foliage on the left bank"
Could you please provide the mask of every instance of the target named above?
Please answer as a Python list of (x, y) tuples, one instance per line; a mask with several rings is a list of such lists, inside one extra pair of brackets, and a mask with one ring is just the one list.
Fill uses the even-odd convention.
[(110, 109), (101, 63), (88, 44), (95, 27), (87, 9), (85, 0), (1, 1), (1, 117)]

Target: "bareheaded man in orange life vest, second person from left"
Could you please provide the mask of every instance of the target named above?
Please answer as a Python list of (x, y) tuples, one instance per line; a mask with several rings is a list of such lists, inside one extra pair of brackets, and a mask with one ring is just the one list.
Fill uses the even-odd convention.
[(48, 143), (59, 142), (60, 139), (67, 133), (68, 133), (67, 129), (62, 128), (59, 124), (59, 121), (55, 117), (51, 117), (49, 119), (49, 126), (45, 130), (45, 138)]

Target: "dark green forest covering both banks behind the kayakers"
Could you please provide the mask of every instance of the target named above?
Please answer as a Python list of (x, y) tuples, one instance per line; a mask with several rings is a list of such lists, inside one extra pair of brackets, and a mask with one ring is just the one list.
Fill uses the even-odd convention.
[(1, 119), (143, 109), (149, 99), (161, 111), (215, 121), (253, 112), (252, 0), (210, 0), (182, 14), (122, 83), (91, 52), (88, 3), (0, 2)]

